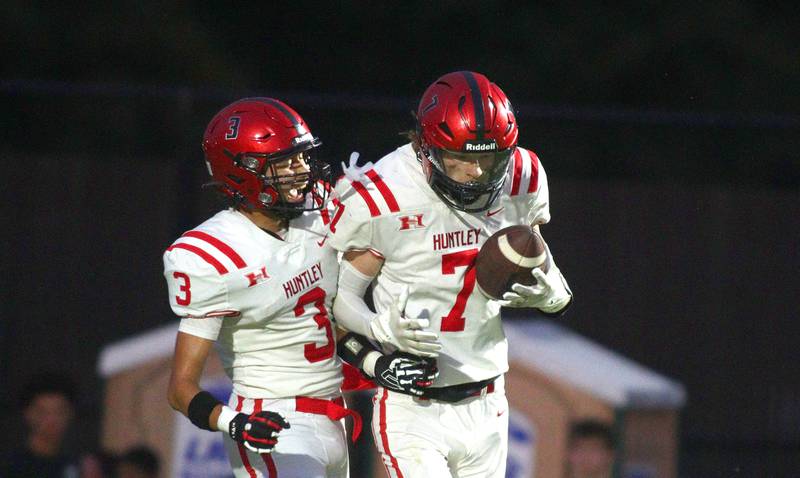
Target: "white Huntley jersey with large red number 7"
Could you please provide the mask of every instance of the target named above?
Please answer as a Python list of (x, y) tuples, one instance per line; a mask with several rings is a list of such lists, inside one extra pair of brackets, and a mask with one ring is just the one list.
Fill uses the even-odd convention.
[(373, 284), (378, 311), (409, 287), (406, 316), (430, 319), (439, 334), (435, 387), (475, 382), (508, 370), (500, 305), (475, 287), (475, 257), (498, 230), (550, 220), (547, 178), (536, 155), (517, 148), (503, 191), (488, 211), (448, 207), (428, 185), (410, 144), (360, 178), (337, 184), (330, 224), (340, 251), (369, 249), (384, 258)]

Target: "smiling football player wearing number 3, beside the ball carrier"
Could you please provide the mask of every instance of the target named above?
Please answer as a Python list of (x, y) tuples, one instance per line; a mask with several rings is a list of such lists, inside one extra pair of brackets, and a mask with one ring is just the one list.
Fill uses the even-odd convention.
[[(219, 430), (237, 477), (346, 477), (341, 362), (329, 311), (337, 253), (320, 141), (292, 108), (247, 98), (211, 120), (203, 150), (231, 207), (164, 253), (181, 317), (169, 402)], [(233, 382), (227, 405), (200, 387), (214, 342)], [(356, 416), (354, 416), (356, 419)], [(356, 428), (360, 428), (357, 421)]]

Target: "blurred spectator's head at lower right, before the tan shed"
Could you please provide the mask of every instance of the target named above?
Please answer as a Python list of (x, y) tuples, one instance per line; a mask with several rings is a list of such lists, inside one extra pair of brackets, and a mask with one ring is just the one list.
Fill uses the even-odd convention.
[(567, 450), (567, 476), (610, 478), (615, 448), (614, 434), (607, 423), (594, 419), (573, 423)]

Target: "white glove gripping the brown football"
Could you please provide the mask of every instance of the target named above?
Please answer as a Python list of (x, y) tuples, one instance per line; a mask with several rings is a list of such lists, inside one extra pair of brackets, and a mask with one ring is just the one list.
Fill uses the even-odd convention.
[(531, 274), (536, 278), (536, 284), (513, 284), (513, 292), (503, 294), (503, 300), (498, 301), (500, 305), (532, 307), (546, 314), (554, 314), (563, 310), (572, 300), (572, 291), (569, 290), (567, 280), (555, 264), (550, 264), (547, 274), (539, 268), (534, 268)]

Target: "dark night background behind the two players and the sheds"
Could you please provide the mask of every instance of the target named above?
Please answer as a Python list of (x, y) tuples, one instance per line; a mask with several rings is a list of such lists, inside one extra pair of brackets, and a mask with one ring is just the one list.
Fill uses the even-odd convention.
[[(280, 5), (280, 6), (277, 6)], [(0, 405), (174, 320), (161, 253), (214, 208), (200, 139), (247, 95), (332, 163), (401, 144), (437, 76), (485, 73), (550, 178), (573, 330), (682, 382), (681, 476), (800, 476), (800, 9), (790, 2), (0, 6)]]

